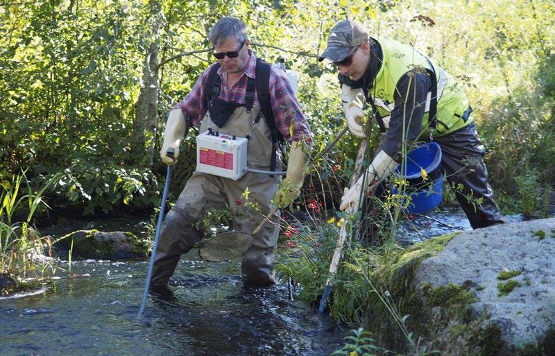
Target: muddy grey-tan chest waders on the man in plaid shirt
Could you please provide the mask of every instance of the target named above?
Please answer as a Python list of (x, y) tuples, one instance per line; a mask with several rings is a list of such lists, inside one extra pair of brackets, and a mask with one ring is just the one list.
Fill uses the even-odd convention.
[[(270, 170), (272, 143), (271, 131), (264, 118), (255, 124), (259, 108), (250, 112), (244, 107), (236, 108), (223, 128), (212, 123), (206, 115), (200, 124), (200, 132), (212, 127), (214, 131), (237, 137), (246, 137), (248, 141), (248, 167), (264, 171)], [(281, 156), (276, 157), (276, 170), (281, 171)], [(151, 284), (155, 287), (167, 285), (169, 278), (179, 262), (180, 255), (189, 251), (194, 244), (205, 237), (202, 220), (211, 209), (227, 209), (233, 214), (232, 228), (239, 232), (251, 233), (263, 215), (249, 211), (245, 207), (245, 198), (241, 197), (246, 188), (250, 194), (249, 201), (254, 201), (264, 211), (271, 210), (271, 199), (278, 191), (280, 176), (270, 176), (248, 172), (239, 180), (222, 178), (206, 173), (194, 172), (181, 192), (176, 205), (168, 212), (160, 233)], [(241, 202), (239, 202), (241, 201)], [(277, 212), (279, 214), (279, 212)], [(260, 217), (256, 219), (255, 217)], [(253, 246), (244, 254), (241, 273), (248, 285), (271, 285), (274, 280), (274, 254), (278, 243), (278, 226), (266, 223), (255, 235)]]

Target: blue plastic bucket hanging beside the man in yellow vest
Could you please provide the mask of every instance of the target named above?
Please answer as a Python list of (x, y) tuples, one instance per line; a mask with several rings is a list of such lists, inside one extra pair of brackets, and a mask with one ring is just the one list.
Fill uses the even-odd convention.
[[(407, 166), (401, 174), (402, 164), (395, 169), (397, 176), (409, 181), (405, 193), (409, 195), (410, 203), (407, 212), (422, 214), (434, 209), (443, 198), (443, 175), (440, 169), (441, 148), (436, 142), (429, 142), (417, 146), (407, 155)], [(427, 178), (422, 177), (422, 169)], [(393, 189), (396, 193), (396, 189)]]

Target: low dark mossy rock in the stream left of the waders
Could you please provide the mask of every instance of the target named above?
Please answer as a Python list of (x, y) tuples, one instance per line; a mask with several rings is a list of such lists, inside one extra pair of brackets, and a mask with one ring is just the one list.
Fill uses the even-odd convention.
[(151, 247), (150, 241), (140, 239), (131, 232), (79, 230), (56, 244), (58, 255), (67, 255), (72, 241), (71, 257), (77, 259), (124, 260), (145, 257)]

